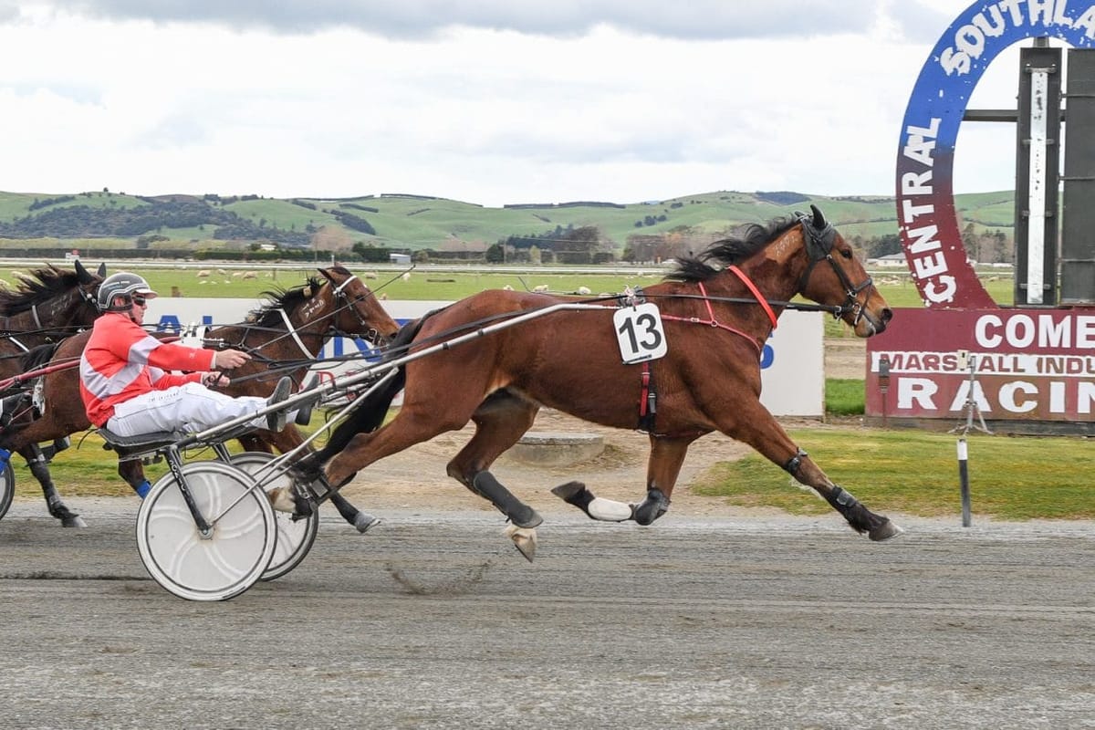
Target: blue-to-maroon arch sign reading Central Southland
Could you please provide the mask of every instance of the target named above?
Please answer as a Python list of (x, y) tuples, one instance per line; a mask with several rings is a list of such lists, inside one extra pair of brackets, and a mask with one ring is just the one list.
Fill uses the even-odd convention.
[(1001, 51), (1035, 37), (1095, 47), (1095, 4), (1069, 0), (975, 2), (944, 32), (909, 99), (897, 151), (897, 216), (913, 281), (930, 309), (994, 309), (970, 266), (954, 205), (958, 127), (978, 81)]

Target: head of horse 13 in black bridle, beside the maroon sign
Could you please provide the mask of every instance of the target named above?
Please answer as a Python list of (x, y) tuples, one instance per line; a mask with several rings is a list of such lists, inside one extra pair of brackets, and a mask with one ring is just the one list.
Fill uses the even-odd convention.
[(798, 279), (798, 291), (818, 304), (839, 306), (837, 316), (851, 325), (856, 336), (877, 335), (886, 329), (894, 312), (844, 237), (817, 206), (811, 205), (810, 210), (811, 216), (799, 215), (809, 263)]

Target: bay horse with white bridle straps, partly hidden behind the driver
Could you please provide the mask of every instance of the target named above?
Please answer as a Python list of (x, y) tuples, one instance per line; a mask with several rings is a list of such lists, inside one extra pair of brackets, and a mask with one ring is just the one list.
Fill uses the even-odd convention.
[[(399, 331), (372, 291), (343, 266), (320, 268), (322, 279), (311, 277), (288, 290), (264, 292), (267, 301), (252, 311), (246, 322), (215, 327), (205, 333), (206, 343), (235, 348), (252, 355), (252, 360), (231, 373), (232, 383), (224, 393), (232, 396), (266, 397), (283, 375), (290, 375), (299, 389), (323, 343), (333, 335), (360, 336), (383, 345)], [(91, 333), (83, 333), (38, 355), (27, 368), (77, 363)], [(212, 345), (210, 345), (212, 346)], [(45, 399), (42, 416), (11, 434), (0, 438), (0, 447), (20, 448), (48, 439), (61, 438), (91, 427), (80, 397), (80, 373), (76, 367), (58, 369), (44, 378)], [(244, 448), (269, 452), (272, 447), (288, 451), (300, 445), (303, 437), (290, 425), (280, 432), (255, 431), (240, 439)], [(139, 460), (119, 460), (118, 474), (135, 491), (146, 486)], [(332, 500), (347, 522), (364, 532), (373, 518), (360, 512), (345, 498)]]

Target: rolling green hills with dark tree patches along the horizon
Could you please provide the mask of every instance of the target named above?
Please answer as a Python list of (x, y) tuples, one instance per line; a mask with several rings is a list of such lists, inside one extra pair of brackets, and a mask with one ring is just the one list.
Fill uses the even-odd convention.
[[(1013, 233), (1010, 190), (959, 195), (963, 224), (975, 231)], [(275, 199), (258, 196), (177, 195), (145, 197), (107, 190), (78, 194), (0, 192), (0, 248), (224, 247), (226, 241), (270, 241), (308, 246), (318, 232), (342, 243), (362, 241), (393, 248), (440, 250), (491, 245), (510, 235), (546, 234), (557, 227), (597, 227), (622, 250), (629, 236), (691, 229), (717, 234), (746, 222), (817, 205), (845, 236), (874, 239), (898, 232), (895, 199), (886, 196), (826, 197), (798, 193), (714, 192), (670, 200), (614, 204), (575, 201), (485, 208), (415, 195), (360, 198)], [(116, 245), (114, 245), (116, 244)], [(84, 246), (87, 247), (87, 246)]]

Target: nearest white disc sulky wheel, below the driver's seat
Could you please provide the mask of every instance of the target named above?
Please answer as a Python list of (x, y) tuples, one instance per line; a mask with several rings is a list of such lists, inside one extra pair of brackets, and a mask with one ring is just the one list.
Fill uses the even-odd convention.
[(247, 473), (222, 462), (182, 467), (211, 525), (203, 535), (174, 475), (165, 474), (137, 512), (137, 547), (153, 579), (178, 598), (223, 601), (257, 581), (277, 541), (274, 509)]

